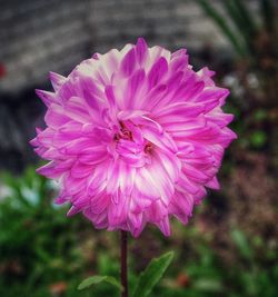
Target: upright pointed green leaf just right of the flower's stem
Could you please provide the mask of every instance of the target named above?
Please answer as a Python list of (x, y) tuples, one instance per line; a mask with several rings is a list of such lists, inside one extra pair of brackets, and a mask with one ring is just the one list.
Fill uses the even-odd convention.
[(150, 261), (145, 271), (141, 273), (136, 285), (133, 297), (147, 297), (158, 284), (166, 269), (169, 267), (173, 258), (173, 251), (169, 251), (159, 258)]

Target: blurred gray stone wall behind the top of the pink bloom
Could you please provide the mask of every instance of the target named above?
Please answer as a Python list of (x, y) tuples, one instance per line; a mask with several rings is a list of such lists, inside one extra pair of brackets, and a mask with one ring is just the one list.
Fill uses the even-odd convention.
[(1, 0), (0, 90), (44, 82), (49, 70), (68, 73), (92, 52), (139, 36), (171, 49), (226, 44), (193, 0)]

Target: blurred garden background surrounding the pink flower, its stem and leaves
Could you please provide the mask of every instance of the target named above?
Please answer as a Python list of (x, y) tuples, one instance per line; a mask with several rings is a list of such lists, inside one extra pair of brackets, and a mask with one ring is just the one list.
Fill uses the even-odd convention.
[(219, 172), (221, 190), (188, 226), (172, 220), (170, 238), (148, 227), (130, 239), (130, 285), (173, 249), (153, 297), (278, 296), (277, 17), (275, 0), (0, 0), (0, 296), (117, 296), (106, 285), (77, 291), (87, 276), (118, 275), (118, 234), (52, 204), (57, 188), (34, 172), (28, 141), (43, 126), (34, 89), (51, 90), (49, 71), (67, 76), (138, 37), (186, 47), (196, 70), (217, 71), (239, 138)]

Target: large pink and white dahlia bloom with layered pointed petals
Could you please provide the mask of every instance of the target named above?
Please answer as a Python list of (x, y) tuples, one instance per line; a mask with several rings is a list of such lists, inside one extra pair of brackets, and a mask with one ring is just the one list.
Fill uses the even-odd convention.
[(169, 217), (186, 224), (218, 189), (225, 148), (236, 138), (221, 107), (229, 91), (185, 49), (146, 41), (96, 53), (66, 78), (50, 73), (54, 92), (37, 90), (47, 128), (31, 141), (50, 162), (38, 172), (60, 182), (57, 204), (82, 212), (96, 228), (138, 236), (147, 222), (170, 235)]

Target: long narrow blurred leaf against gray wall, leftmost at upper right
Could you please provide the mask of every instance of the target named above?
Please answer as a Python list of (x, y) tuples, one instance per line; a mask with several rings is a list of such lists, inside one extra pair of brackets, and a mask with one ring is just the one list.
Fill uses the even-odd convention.
[(207, 1), (198, 0), (202, 10), (216, 22), (219, 29), (224, 32), (230, 43), (234, 46), (236, 52), (241, 56), (247, 56), (247, 49), (239, 42), (238, 37), (229, 27), (227, 20)]

